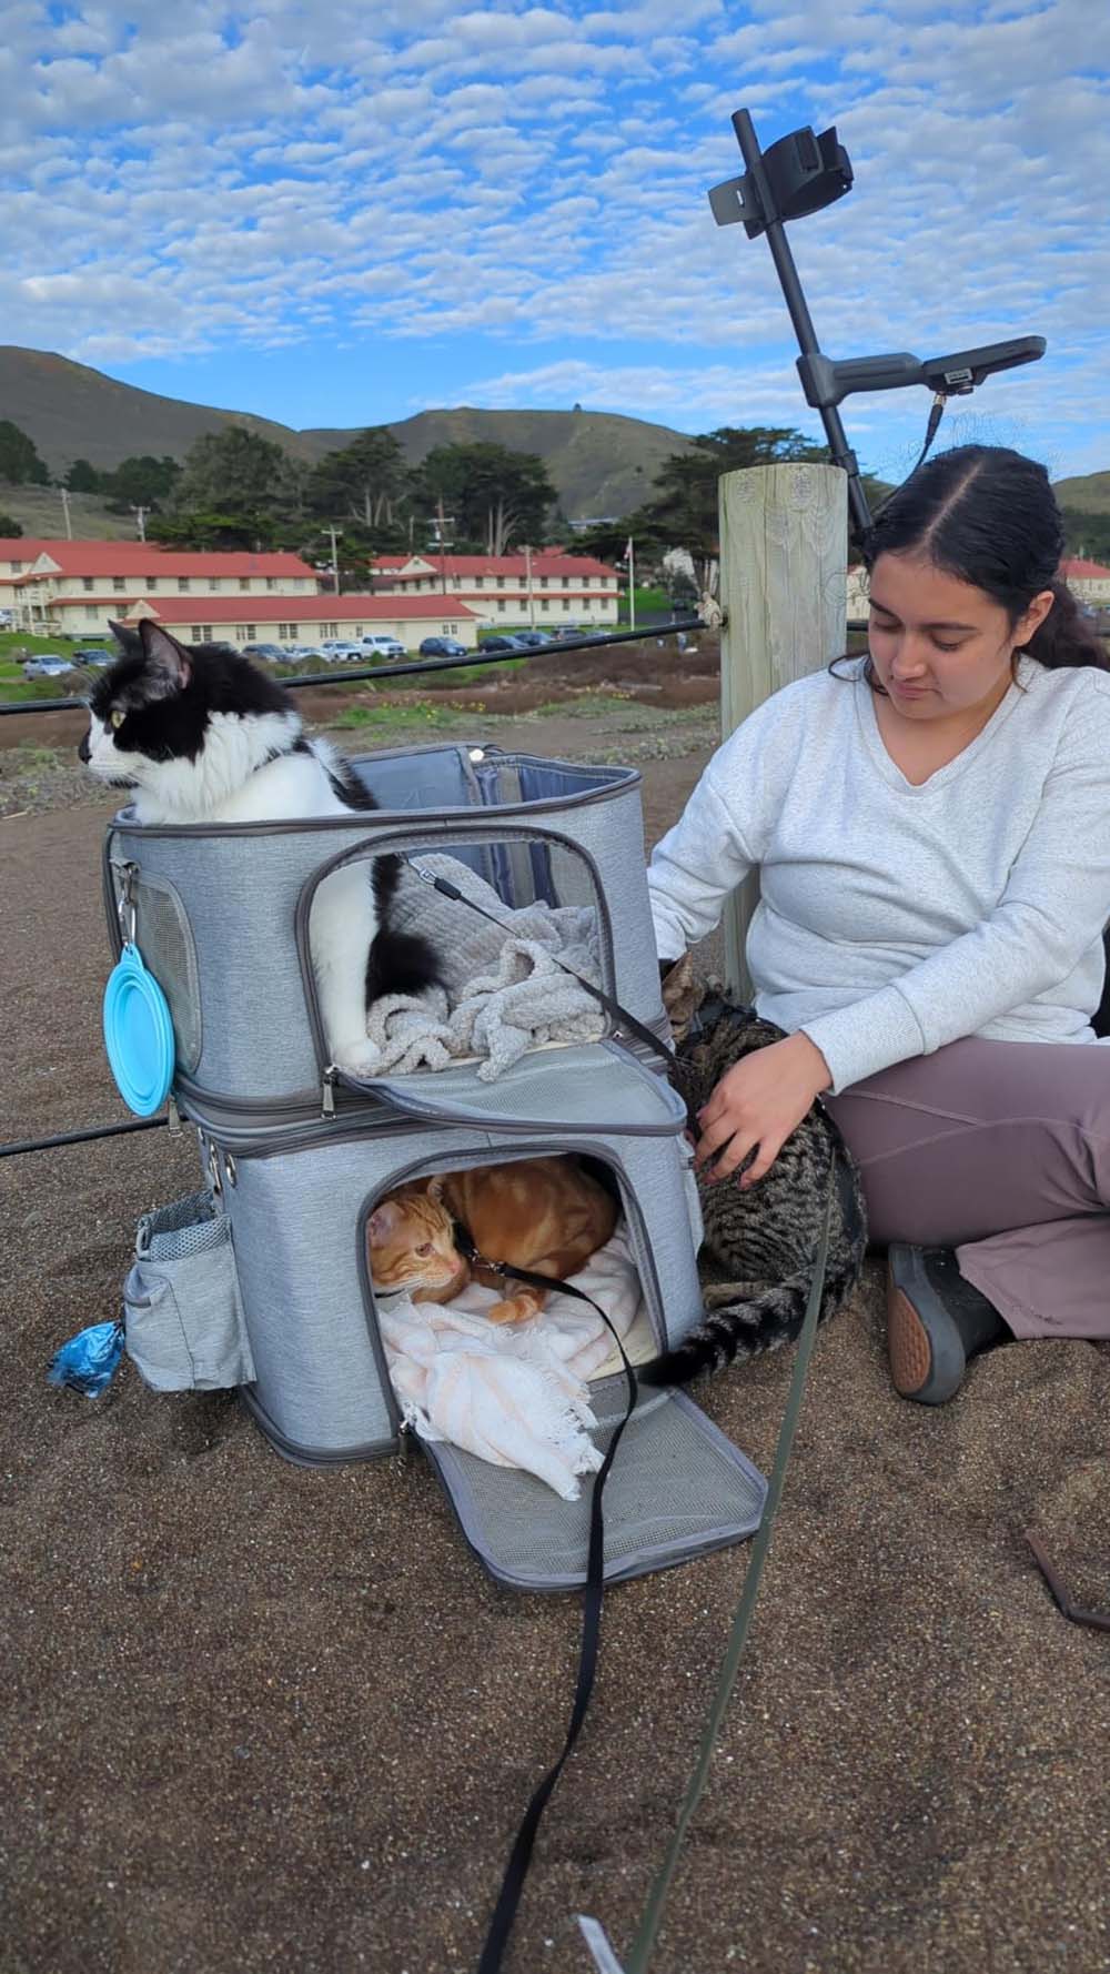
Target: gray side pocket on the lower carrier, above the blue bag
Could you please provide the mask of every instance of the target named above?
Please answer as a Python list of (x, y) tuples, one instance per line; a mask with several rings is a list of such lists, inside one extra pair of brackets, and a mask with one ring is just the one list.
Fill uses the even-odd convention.
[(142, 1216), (122, 1303), (126, 1352), (154, 1392), (253, 1384), (231, 1222), (211, 1192)]

